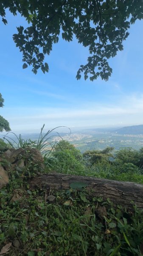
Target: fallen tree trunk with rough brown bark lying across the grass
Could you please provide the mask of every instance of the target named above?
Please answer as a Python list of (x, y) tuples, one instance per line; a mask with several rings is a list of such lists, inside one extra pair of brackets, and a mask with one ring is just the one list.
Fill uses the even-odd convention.
[(114, 205), (122, 205), (132, 209), (132, 205), (143, 208), (143, 185), (133, 182), (122, 182), (116, 180), (99, 179), (95, 177), (84, 177), (63, 174), (45, 174), (34, 177), (30, 181), (31, 188), (42, 186), (46, 189), (62, 190), (70, 189), (71, 186), (86, 187), (90, 191), (90, 196), (96, 198), (107, 198)]

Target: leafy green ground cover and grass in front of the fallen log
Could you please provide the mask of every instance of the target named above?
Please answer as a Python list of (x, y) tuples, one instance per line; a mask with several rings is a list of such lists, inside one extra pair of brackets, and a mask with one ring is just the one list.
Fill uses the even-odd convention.
[[(0, 190), (0, 250), (12, 243), (11, 256), (142, 255), (143, 210), (114, 207), (84, 189), (31, 189), (27, 173), (13, 170), (8, 186)], [(47, 200), (49, 193), (55, 202)], [(13, 195), (19, 200), (13, 202)], [(96, 213), (100, 206), (107, 209), (103, 218)]]

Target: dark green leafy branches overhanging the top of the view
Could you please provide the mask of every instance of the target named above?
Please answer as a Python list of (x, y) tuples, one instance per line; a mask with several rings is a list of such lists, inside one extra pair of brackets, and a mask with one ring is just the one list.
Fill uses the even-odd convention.
[(66, 41), (75, 36), (90, 54), (76, 78), (84, 73), (84, 79), (90, 77), (91, 81), (98, 76), (108, 80), (112, 73), (108, 59), (123, 50), (130, 25), (143, 19), (142, 0), (1, 0), (4, 24), (6, 9), (13, 15), (19, 12), (29, 24), (27, 28), (17, 27), (17, 34), (13, 35), (22, 52), (23, 68), (32, 65), (35, 74), (39, 68), (48, 72), (45, 55), (58, 43), (60, 34)]

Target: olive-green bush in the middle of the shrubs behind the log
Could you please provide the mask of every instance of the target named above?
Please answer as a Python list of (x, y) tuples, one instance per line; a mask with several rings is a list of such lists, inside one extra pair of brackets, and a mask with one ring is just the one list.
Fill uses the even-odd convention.
[(107, 147), (103, 150), (88, 150), (83, 153), (85, 161), (88, 161), (91, 165), (98, 161), (109, 161), (109, 157), (113, 157), (111, 152), (114, 150), (112, 147)]

